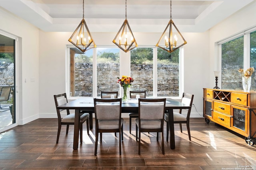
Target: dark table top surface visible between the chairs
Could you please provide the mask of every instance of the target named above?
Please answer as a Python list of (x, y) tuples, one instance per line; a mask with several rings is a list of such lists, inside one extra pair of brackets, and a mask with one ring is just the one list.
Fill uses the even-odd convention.
[[(166, 108), (172, 109), (188, 109), (189, 105), (182, 104), (173, 99), (166, 99)], [(128, 102), (122, 102), (123, 107), (137, 107), (138, 108), (138, 99), (132, 99)], [(57, 107), (58, 109), (86, 109), (86, 108), (94, 108), (94, 98), (78, 98), (77, 100), (68, 102), (61, 106)]]

